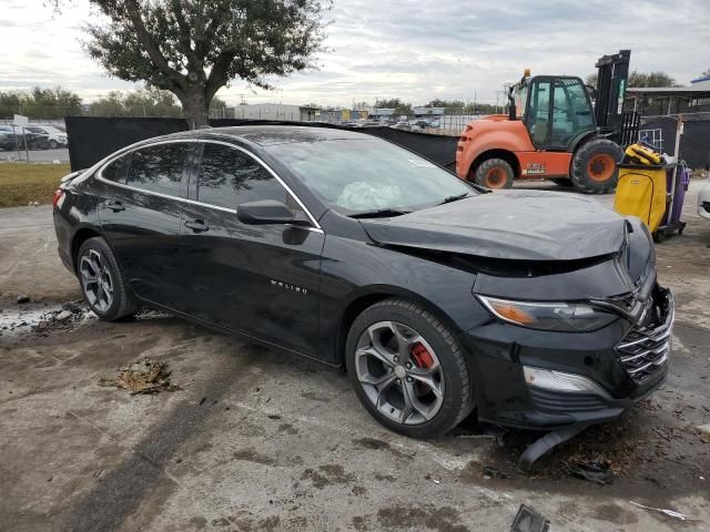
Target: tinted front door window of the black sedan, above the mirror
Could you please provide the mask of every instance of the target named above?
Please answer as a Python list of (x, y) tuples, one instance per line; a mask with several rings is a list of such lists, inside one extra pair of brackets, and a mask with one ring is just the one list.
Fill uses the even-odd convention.
[(226, 208), (260, 200), (277, 200), (294, 207), (278, 181), (244, 152), (205, 143), (197, 174), (197, 201)]

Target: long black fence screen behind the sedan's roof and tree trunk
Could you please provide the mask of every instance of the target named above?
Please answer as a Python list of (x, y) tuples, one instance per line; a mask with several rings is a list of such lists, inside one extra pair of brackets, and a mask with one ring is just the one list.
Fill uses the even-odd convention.
[[(186, 131), (187, 124), (182, 119), (132, 119), (68, 116), (67, 135), (69, 137), (69, 160), (71, 170), (88, 168), (106, 155), (145, 139)], [(277, 122), (268, 120), (211, 120), (213, 127), (234, 125), (311, 125), (318, 127), (338, 127), (334, 124)], [(392, 127), (364, 127), (355, 131), (386, 139), (395, 144), (412, 150), (443, 166), (453, 167), (456, 158), (458, 137), (430, 135)]]

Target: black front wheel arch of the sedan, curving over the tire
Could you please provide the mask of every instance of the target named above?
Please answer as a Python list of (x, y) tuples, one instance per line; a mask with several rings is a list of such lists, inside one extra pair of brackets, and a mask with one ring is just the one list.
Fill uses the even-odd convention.
[(343, 366), (345, 364), (345, 344), (347, 342), (347, 334), (357, 317), (373, 305), (384, 301), (385, 299), (397, 298), (420, 305), (424, 309), (435, 315), (447, 327), (456, 334), (460, 332), (456, 324), (444, 313), (434, 301), (422, 297), (406, 288), (392, 285), (374, 285), (363, 287), (349, 298), (345, 305), (341, 318), (338, 320), (335, 337), (335, 365)]

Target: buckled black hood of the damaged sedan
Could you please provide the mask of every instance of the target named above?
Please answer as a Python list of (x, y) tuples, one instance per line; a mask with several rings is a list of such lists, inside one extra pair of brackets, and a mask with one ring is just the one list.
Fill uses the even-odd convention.
[(361, 223), (381, 245), (519, 260), (609, 255), (627, 231), (626, 219), (596, 200), (537, 191), (497, 191)]

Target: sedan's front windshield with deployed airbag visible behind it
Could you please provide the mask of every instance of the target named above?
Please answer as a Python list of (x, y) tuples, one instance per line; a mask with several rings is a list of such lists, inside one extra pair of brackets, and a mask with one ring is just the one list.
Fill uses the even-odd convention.
[(409, 212), (475, 194), (455, 175), (376, 139), (277, 144), (266, 150), (344, 214)]

